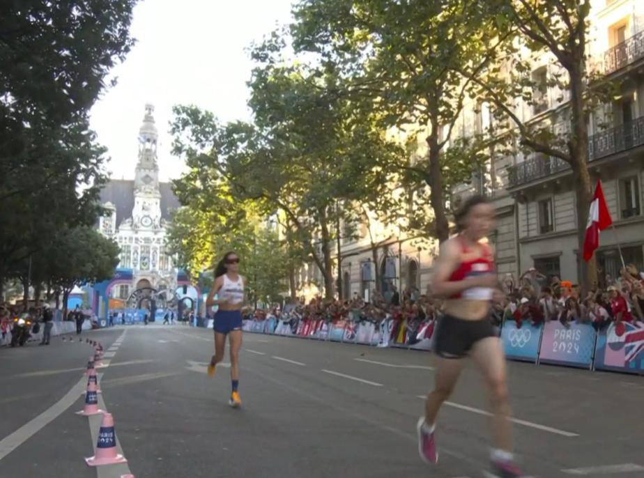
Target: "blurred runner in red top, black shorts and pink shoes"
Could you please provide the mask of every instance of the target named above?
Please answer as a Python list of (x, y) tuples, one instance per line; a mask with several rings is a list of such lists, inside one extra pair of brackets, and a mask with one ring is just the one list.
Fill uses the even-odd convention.
[(491, 300), (498, 289), (492, 248), (482, 242), (494, 229), (495, 211), (484, 196), (463, 203), (455, 219), (458, 236), (443, 242), (434, 265), (433, 291), (445, 298), (445, 316), (436, 330), (434, 351), (438, 355), (436, 385), (427, 396), (425, 415), (418, 421), (420, 457), (438, 462), (436, 416), (454, 390), (465, 358), (471, 357), (488, 386), (493, 413), (493, 476), (519, 478), (514, 464), (512, 424), (507, 397), (505, 355), (489, 320)]

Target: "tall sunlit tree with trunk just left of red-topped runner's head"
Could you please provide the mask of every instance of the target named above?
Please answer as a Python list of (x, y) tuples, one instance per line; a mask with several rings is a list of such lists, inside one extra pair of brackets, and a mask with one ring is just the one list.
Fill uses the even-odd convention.
[(472, 86), (459, 70), (476, 75), (502, 44), (489, 28), (493, 19), (483, 15), (484, 3), (303, 0), (294, 10), (298, 51), (339, 65), (354, 98), (367, 102), (383, 128), (395, 126), (411, 139), (422, 134), (427, 155), (414, 161), (407, 156), (397, 168), (411, 174), (402, 184), (412, 191), (429, 187), (431, 226), (440, 241), (450, 233), (449, 191), (480, 167), (475, 153), (483, 146), (475, 132), (459, 144), (453, 136)]

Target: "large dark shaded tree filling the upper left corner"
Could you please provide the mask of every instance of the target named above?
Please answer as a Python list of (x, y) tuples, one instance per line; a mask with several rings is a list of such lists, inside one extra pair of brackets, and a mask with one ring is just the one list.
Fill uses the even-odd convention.
[[(56, 231), (92, 224), (105, 177), (88, 111), (132, 47), (135, 0), (0, 7), (0, 295)], [(113, 83), (113, 82), (112, 82)]]

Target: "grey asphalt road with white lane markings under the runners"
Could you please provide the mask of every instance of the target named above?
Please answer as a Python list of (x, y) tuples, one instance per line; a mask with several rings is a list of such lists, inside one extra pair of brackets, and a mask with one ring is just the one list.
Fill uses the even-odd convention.
[[(430, 353), (245, 334), (241, 410), (229, 371), (206, 375), (212, 331), (181, 325), (86, 332), (102, 342), (100, 406), (128, 465), (89, 468), (100, 418), (75, 415), (91, 352), (0, 348), (0, 477), (482, 477), (486, 393), (468, 368), (441, 410), (440, 463), (417, 456)], [(511, 362), (516, 450), (531, 475), (644, 477), (644, 378)]]

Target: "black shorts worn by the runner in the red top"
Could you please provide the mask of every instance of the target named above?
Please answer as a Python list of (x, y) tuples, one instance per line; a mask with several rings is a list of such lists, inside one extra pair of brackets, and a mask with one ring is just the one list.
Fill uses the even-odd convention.
[(459, 359), (468, 355), (477, 341), (496, 337), (496, 331), (488, 318), (466, 321), (454, 316), (443, 316), (438, 322), (434, 352), (439, 357)]

